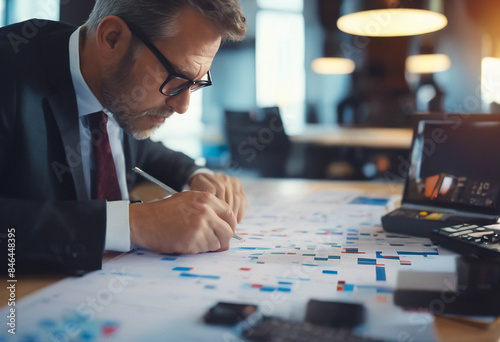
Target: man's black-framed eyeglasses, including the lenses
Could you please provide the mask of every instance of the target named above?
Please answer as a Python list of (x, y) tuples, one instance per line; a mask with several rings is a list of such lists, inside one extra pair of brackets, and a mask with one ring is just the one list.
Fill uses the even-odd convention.
[(212, 77), (210, 76), (210, 70), (205, 75), (204, 79), (199, 81), (193, 81), (189, 77), (178, 73), (175, 71), (174, 67), (170, 62), (163, 56), (163, 54), (154, 46), (154, 44), (146, 38), (146, 36), (135, 26), (128, 22), (125, 22), (133, 35), (135, 35), (139, 40), (146, 45), (146, 47), (151, 50), (158, 61), (163, 65), (165, 70), (167, 70), (168, 76), (165, 82), (160, 86), (160, 93), (165, 96), (175, 96), (186, 89), (190, 89), (191, 92), (198, 89), (209, 87), (212, 85)]

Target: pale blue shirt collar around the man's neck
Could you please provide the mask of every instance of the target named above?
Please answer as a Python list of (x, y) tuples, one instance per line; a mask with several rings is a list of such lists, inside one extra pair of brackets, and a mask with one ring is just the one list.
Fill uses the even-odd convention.
[(100, 112), (104, 107), (90, 90), (80, 70), (80, 29), (81, 27), (69, 38), (69, 68), (75, 87), (78, 116), (82, 117)]

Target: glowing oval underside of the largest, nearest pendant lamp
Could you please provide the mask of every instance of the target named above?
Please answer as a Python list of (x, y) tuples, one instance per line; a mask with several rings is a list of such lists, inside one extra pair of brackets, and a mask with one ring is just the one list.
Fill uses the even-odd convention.
[(441, 13), (410, 8), (355, 12), (337, 21), (341, 31), (368, 37), (414, 36), (441, 30), (446, 25), (448, 20)]

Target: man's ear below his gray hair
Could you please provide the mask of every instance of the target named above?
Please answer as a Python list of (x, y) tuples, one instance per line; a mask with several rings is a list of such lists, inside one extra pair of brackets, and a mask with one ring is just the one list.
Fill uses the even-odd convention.
[(132, 33), (127, 24), (117, 16), (104, 18), (96, 32), (96, 43), (101, 57), (109, 62), (118, 62), (128, 50)]

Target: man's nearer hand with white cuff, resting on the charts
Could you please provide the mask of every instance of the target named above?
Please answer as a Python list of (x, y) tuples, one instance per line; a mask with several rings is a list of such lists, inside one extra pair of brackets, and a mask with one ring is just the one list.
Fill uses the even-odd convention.
[(132, 243), (162, 253), (227, 250), (236, 229), (232, 207), (200, 191), (185, 191), (160, 201), (130, 204), (129, 218)]

